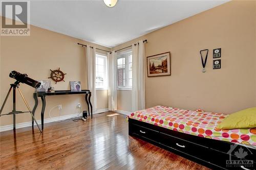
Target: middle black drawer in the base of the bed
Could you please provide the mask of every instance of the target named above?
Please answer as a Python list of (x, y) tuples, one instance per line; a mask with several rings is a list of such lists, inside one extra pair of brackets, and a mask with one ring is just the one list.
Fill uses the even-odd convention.
[(208, 154), (208, 148), (199, 144), (192, 143), (174, 136), (170, 136), (160, 132), (160, 143), (167, 147), (176, 149), (190, 156), (197, 157), (204, 161), (208, 161), (206, 155)]

